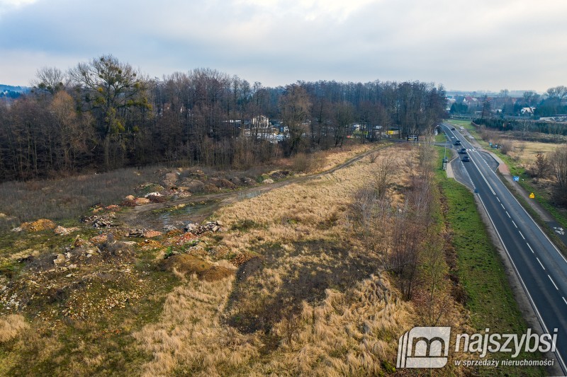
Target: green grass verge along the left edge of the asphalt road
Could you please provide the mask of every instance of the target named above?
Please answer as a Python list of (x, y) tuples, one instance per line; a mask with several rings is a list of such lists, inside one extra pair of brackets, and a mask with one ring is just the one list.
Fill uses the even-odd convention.
[[(439, 151), (439, 166), (442, 149)], [(517, 306), (498, 250), (490, 241), (487, 228), (476, 208), (473, 194), (456, 180), (437, 170), (437, 182), (447, 211), (445, 221), (452, 232), (451, 243), (457, 256), (459, 282), (466, 292), (466, 308), (471, 311), (471, 325), (479, 332), (523, 334), (527, 324)], [(510, 354), (497, 353), (493, 359), (509, 359)], [(517, 359), (541, 359), (541, 354), (522, 353)], [(502, 366), (480, 369), (485, 375), (543, 376), (543, 368)]]

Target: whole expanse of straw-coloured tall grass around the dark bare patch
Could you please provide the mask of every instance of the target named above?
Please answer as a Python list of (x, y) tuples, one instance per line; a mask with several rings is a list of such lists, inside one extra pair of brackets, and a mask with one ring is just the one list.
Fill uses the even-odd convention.
[[(402, 161), (404, 155), (403, 149), (391, 147), (376, 161)], [(264, 305), (276, 296), (284, 298), (283, 306), (288, 303), (294, 308), (293, 296), (283, 295), (284, 290), (301, 281), (298, 274), (310, 275), (304, 282), (334, 274), (344, 262), (339, 252), (351, 260), (357, 253), (380, 252), (366, 250), (362, 243), (349, 239), (352, 232), (347, 216), (354, 192), (372, 185), (369, 178), (374, 169), (375, 163), (365, 158), (322, 178), (281, 187), (217, 211), (213, 217), (224, 221), (228, 231), (220, 240), (207, 241), (232, 254), (260, 255), (264, 262), (249, 280), (240, 276), (238, 281), (228, 277), (202, 282), (189, 277), (169, 294), (159, 322), (134, 335), (151, 355), (144, 366), (145, 376), (376, 375), (388, 363), (393, 364), (398, 337), (411, 327), (415, 314), (409, 303), (400, 301), (386, 275), (378, 273), (378, 265), (373, 267), (374, 275), (366, 274), (350, 288), (335, 281), (347, 288), (327, 284), (327, 289), (319, 292), (321, 299), (300, 302), (298, 310), (283, 308), (280, 316), (271, 317), (274, 323), (261, 330), (239, 332), (228, 324), (228, 318), (242, 314), (242, 308), (252, 313), (266, 310)], [(405, 185), (407, 173), (406, 168), (400, 168), (394, 183)], [(310, 242), (334, 244), (339, 250), (310, 248)], [(342, 244), (352, 250), (341, 251)], [(264, 255), (266, 250), (271, 254)], [(244, 285), (240, 296), (234, 296), (242, 284), (249, 285)], [(249, 287), (252, 291), (247, 291)], [(295, 289), (301, 297), (306, 287)], [(243, 301), (232, 302), (235, 297)]]

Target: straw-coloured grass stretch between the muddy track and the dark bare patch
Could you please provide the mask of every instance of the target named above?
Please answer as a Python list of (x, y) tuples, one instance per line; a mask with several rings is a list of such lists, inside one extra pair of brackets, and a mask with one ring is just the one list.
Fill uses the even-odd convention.
[[(348, 158), (348, 154), (343, 158)], [(254, 251), (258, 243), (291, 243), (298, 240), (334, 240), (347, 236), (347, 207), (361, 187), (374, 185), (374, 173), (383, 159), (402, 161), (405, 150), (391, 147), (374, 163), (369, 158), (349, 168), (314, 180), (282, 187), (252, 199), (220, 209), (215, 218), (223, 219), (227, 228), (251, 221), (254, 228), (232, 231), (223, 236), (222, 244), (241, 253)], [(342, 162), (342, 161), (341, 161)], [(398, 164), (395, 182), (405, 185), (407, 168)], [(392, 194), (395, 197), (395, 194)]]

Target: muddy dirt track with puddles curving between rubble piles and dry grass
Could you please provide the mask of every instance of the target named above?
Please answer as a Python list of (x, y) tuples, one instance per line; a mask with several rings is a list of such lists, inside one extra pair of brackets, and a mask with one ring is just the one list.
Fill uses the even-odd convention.
[[(121, 213), (119, 212), (116, 215), (117, 220), (118, 223), (123, 224), (126, 228), (146, 228), (155, 230), (162, 230), (162, 228), (168, 225), (179, 226), (181, 223), (187, 223), (189, 221), (201, 222), (207, 219), (208, 216), (213, 214), (213, 212), (220, 207), (224, 207), (240, 200), (256, 197), (264, 192), (286, 185), (291, 185), (292, 183), (307, 182), (308, 180), (320, 178), (323, 175), (332, 174), (339, 169), (352, 165), (353, 163), (368, 156), (370, 153), (378, 151), (378, 149), (383, 149), (384, 147), (386, 147), (386, 144), (376, 146), (376, 148), (360, 153), (358, 156), (350, 158), (344, 163), (341, 163), (329, 170), (325, 170), (322, 173), (303, 175), (301, 177), (274, 182), (269, 185), (247, 187), (242, 190), (231, 192), (196, 195), (183, 199), (174, 199), (164, 203), (144, 204), (133, 207), (131, 210), (125, 210)], [(174, 207), (179, 206), (179, 204), (184, 204), (185, 207), (181, 209), (174, 209)], [(173, 214), (172, 211), (176, 211), (176, 213)]]

